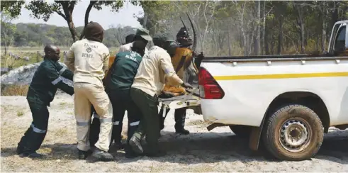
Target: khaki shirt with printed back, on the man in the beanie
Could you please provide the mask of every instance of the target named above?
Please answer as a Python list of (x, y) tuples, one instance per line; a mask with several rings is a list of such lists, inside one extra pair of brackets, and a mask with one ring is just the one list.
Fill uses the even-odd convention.
[(103, 87), (102, 79), (108, 70), (110, 52), (103, 43), (87, 39), (78, 40), (64, 58), (74, 72), (74, 83), (85, 82)]

